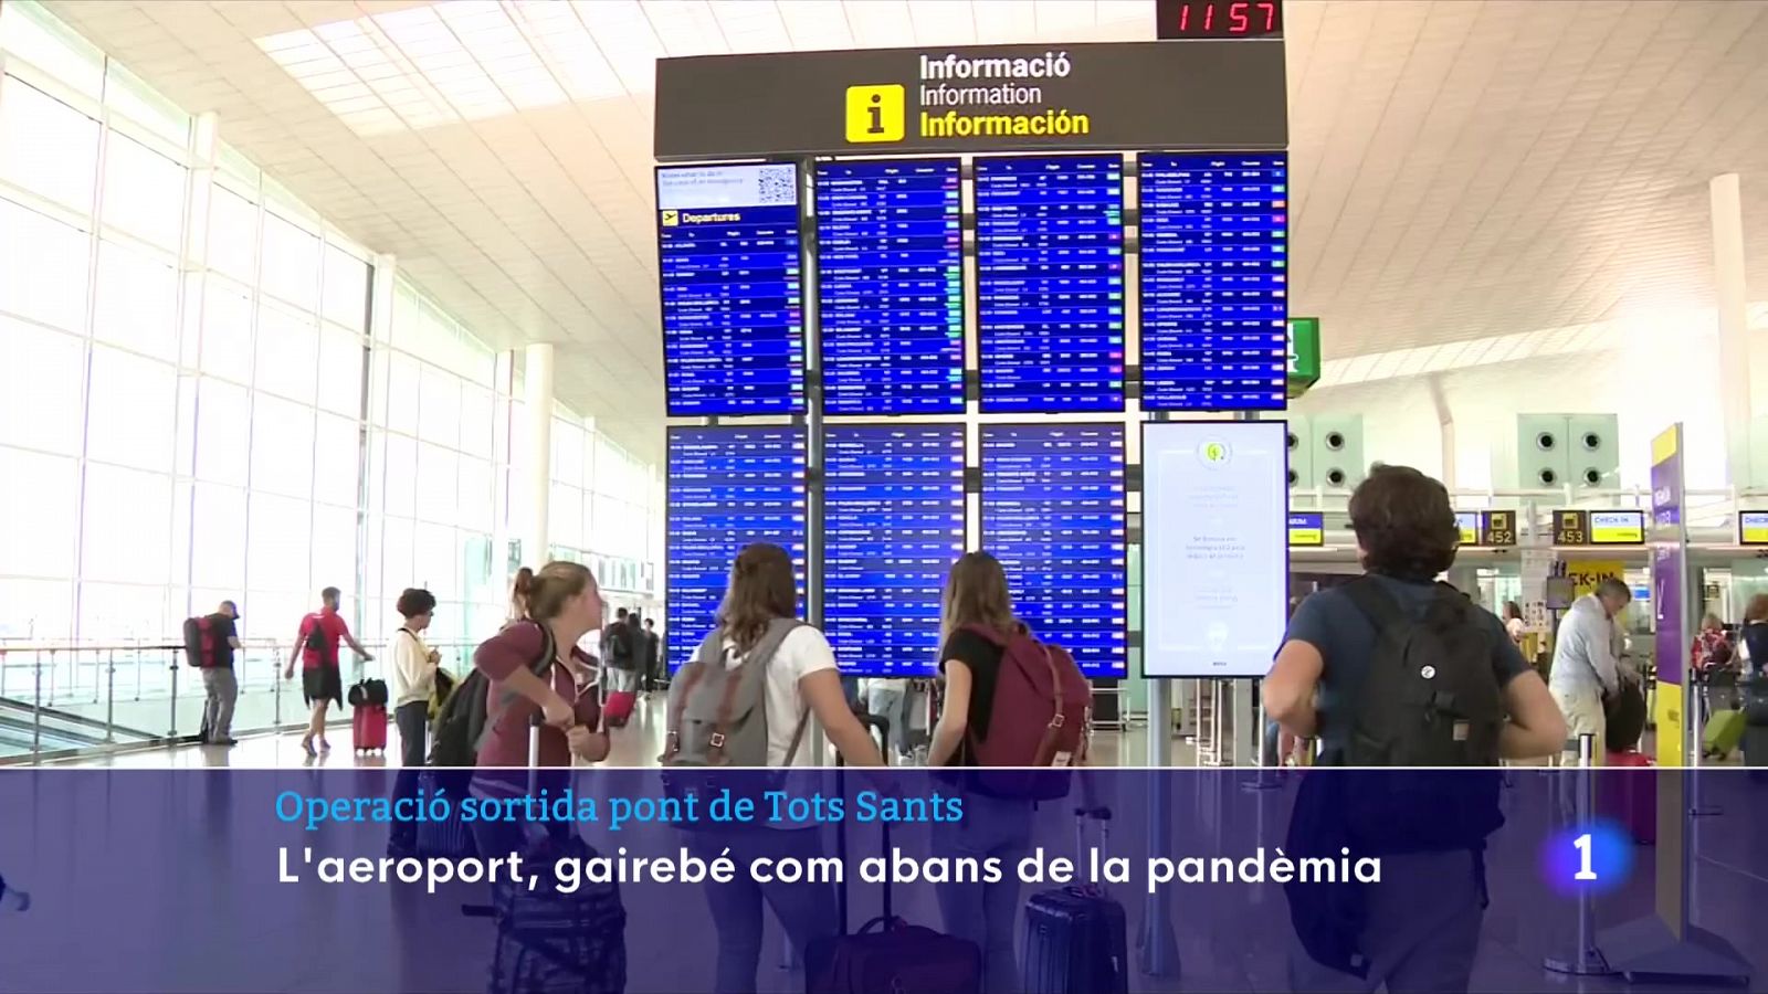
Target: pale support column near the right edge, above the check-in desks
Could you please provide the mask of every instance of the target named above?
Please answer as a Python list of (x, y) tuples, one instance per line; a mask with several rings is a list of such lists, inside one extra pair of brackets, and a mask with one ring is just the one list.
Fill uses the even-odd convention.
[(1713, 214), (1713, 302), (1718, 308), (1718, 403), (1726, 426), (1727, 478), (1733, 486), (1750, 486), (1750, 325), (1743, 271), (1743, 207), (1738, 173), (1713, 177), (1708, 184)]

